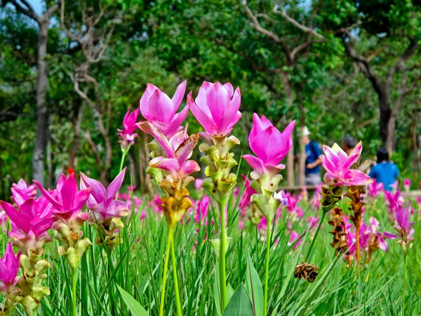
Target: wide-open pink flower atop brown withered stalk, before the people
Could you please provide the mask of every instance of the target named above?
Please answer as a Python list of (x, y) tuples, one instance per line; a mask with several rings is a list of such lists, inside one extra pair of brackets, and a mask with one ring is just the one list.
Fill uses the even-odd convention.
[(326, 169), (324, 180), (328, 185), (368, 185), (370, 177), (359, 170), (351, 169), (363, 150), (363, 143), (359, 142), (351, 154), (348, 155), (335, 143), (332, 148), (323, 145), (321, 164)]

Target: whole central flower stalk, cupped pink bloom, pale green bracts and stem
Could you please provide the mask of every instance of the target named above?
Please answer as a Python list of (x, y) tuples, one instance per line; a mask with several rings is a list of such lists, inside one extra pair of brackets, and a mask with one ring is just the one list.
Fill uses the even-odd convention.
[(225, 255), (229, 247), (227, 236), (227, 204), (236, 185), (236, 175), (231, 169), (237, 165), (234, 154), (229, 152), (240, 143), (234, 136), (228, 136), (234, 125), (241, 118), (239, 107), (241, 104), (240, 89), (232, 84), (211, 84), (204, 81), (195, 100), (192, 92), (187, 96), (187, 105), (194, 117), (199, 121), (205, 133), (199, 133), (204, 140), (199, 146), (200, 152), (206, 155), (201, 162), (206, 164), (202, 187), (208, 195), (218, 202), (220, 207), (220, 238), (211, 240), (220, 269), (220, 296), (222, 311), (227, 306), (227, 272)]

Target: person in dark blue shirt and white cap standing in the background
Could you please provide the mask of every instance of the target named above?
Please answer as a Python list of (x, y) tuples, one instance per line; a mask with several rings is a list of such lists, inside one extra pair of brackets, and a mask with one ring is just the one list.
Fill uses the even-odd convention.
[(321, 183), (320, 164), (321, 149), (315, 140), (309, 138), (309, 129), (302, 129), (301, 141), (305, 145), (305, 185), (318, 185)]

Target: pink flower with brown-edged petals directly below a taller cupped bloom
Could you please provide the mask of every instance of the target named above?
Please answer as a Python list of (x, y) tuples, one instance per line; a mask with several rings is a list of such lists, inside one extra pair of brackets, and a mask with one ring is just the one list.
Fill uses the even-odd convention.
[(138, 124), (145, 133), (154, 136), (155, 140), (161, 145), (166, 157), (156, 157), (149, 162), (149, 166), (168, 171), (173, 178), (185, 178), (190, 173), (200, 170), (199, 164), (194, 160), (187, 160), (192, 157), (193, 149), (199, 140), (196, 134), (187, 136), (187, 126), (173, 135), (170, 139), (166, 138), (149, 121)]

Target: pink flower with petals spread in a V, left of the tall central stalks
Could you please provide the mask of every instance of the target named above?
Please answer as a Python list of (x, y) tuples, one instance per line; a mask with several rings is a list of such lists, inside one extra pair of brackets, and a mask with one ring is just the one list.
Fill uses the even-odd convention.
[(116, 194), (123, 184), (125, 174), (126, 168), (105, 189), (100, 181), (89, 178), (81, 173), (81, 189), (91, 188), (91, 195), (88, 197), (86, 206), (91, 210), (89, 215), (91, 216), (90, 220), (92, 223), (98, 221), (99, 224), (102, 224), (109, 218), (128, 216), (127, 204), (116, 200)]

